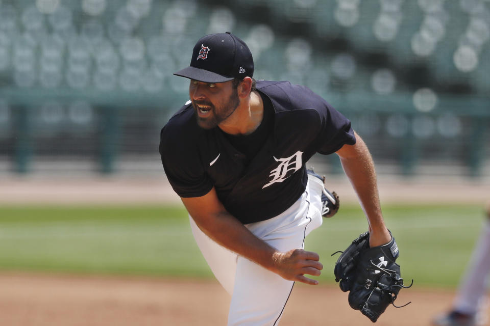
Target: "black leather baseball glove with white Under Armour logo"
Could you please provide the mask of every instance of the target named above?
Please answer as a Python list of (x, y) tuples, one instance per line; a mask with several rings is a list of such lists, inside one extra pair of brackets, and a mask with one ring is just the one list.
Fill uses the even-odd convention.
[[(361, 234), (335, 263), (335, 281), (340, 289), (349, 293), (349, 305), (376, 322), (394, 302), (403, 285), (400, 276), (398, 247), (395, 238), (379, 247), (369, 247), (369, 232)], [(408, 303), (409, 304), (409, 303)], [(408, 305), (406, 304), (406, 305)], [(397, 307), (401, 308), (406, 305)]]

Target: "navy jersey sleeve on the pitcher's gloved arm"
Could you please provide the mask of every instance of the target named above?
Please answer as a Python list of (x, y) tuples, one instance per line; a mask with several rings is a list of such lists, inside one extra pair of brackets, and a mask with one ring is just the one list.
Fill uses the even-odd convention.
[(328, 103), (325, 109), (320, 111), (320, 122), (320, 132), (317, 138), (318, 153), (332, 154), (345, 144), (354, 145), (356, 143), (350, 120)]

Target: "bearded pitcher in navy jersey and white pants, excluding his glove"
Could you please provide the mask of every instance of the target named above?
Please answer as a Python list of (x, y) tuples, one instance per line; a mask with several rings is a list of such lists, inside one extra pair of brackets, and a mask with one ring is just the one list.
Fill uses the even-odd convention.
[(350, 121), (306, 87), (256, 82), (253, 73), (238, 37), (204, 36), (190, 66), (175, 73), (190, 79), (190, 100), (161, 131), (165, 173), (231, 295), (228, 325), (277, 325), (294, 282), (318, 283), (306, 275), (323, 266), (303, 250), (304, 240), (322, 215), (336, 212), (338, 198), (305, 168), (313, 154), (340, 157), (367, 218), (369, 246), (392, 240), (373, 160)]

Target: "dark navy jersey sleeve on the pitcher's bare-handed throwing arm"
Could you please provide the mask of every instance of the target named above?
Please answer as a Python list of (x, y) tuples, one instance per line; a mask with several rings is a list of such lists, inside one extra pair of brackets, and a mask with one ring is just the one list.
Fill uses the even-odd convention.
[(172, 137), (168, 129), (163, 127), (160, 132), (159, 151), (170, 185), (180, 197), (206, 195), (213, 183), (204, 170), (195, 142), (177, 141), (179, 138)]

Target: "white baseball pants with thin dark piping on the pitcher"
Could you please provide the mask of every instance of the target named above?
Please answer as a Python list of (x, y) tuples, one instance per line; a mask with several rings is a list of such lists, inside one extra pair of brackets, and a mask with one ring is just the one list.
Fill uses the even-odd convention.
[[(279, 251), (303, 248), (306, 235), (322, 225), (323, 183), (308, 175), (301, 197), (272, 219), (247, 224), (257, 237)], [(228, 325), (277, 325), (294, 282), (220, 246), (190, 217), (192, 234), (216, 279), (231, 295)]]

